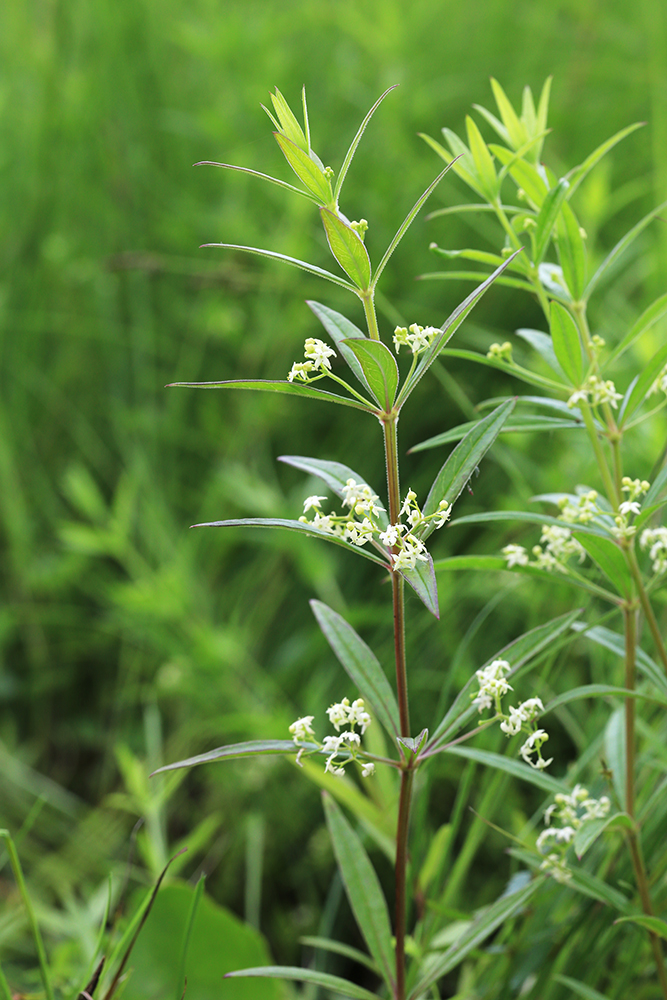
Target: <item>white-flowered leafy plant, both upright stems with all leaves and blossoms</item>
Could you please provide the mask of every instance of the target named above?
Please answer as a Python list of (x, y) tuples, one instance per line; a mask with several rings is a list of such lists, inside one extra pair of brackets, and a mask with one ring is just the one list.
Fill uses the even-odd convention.
[[(390, 768), (397, 773), (399, 790), (392, 804), (395, 811), (392, 817), (395, 824), (392, 851), (393, 927), (389, 905), (366, 846), (341, 808), (340, 802), (345, 796), (337, 792), (335, 782), (327, 786), (329, 793), (325, 796), (327, 822), (342, 882), (368, 948), (369, 954), (363, 956), (363, 960), (370, 964), (382, 981), (383, 985), (378, 989), (384, 996), (391, 996), (393, 1000), (420, 1000), (436, 991), (443, 976), (467, 959), (494, 931), (511, 917), (521, 914), (529, 901), (535, 905), (538, 890), (549, 876), (553, 876), (557, 882), (567, 883), (568, 891), (581, 892), (587, 898), (607, 905), (613, 898), (614, 905), (623, 910), (628, 919), (634, 919), (646, 928), (654, 962), (653, 972), (648, 974), (657, 976), (667, 998), (667, 976), (660, 944), (660, 938), (666, 936), (667, 924), (658, 921), (655, 916), (635, 801), (635, 704), (637, 697), (642, 695), (636, 682), (639, 663), (644, 664), (645, 674), (649, 682), (657, 687), (657, 696), (662, 703), (667, 702), (664, 677), (667, 652), (650, 596), (657, 578), (667, 569), (667, 529), (645, 527), (667, 502), (663, 496), (667, 470), (657, 469), (656, 474), (651, 476), (652, 482), (630, 479), (624, 474), (621, 452), (625, 431), (651, 415), (642, 411), (645, 401), (652, 394), (665, 393), (667, 347), (657, 351), (624, 392), (618, 391), (613, 380), (606, 377), (611, 361), (627, 351), (667, 312), (667, 295), (653, 303), (606, 356), (604, 340), (598, 334), (591, 334), (587, 319), (590, 295), (623, 250), (660, 209), (638, 223), (589, 277), (586, 234), (575, 216), (570, 199), (602, 156), (635, 126), (618, 133), (583, 164), (559, 178), (540, 163), (546, 135), (549, 84), (545, 85), (537, 107), (532, 94), (526, 90), (521, 115), (515, 112), (495, 81), (493, 88), (500, 118), (484, 108), (478, 110), (496, 131), (502, 144), (487, 145), (471, 118), (467, 119), (467, 144), (448, 129), (444, 130), (448, 148), (424, 137), (445, 160), (446, 167), (417, 199), (375, 265), (365, 244), (367, 221), (351, 222), (341, 211), (339, 203), (357, 146), (372, 115), (389, 91), (379, 98), (364, 118), (337, 175), (330, 167), (324, 166), (312, 147), (305, 92), (303, 126), (278, 91), (272, 95), (273, 109), (268, 112), (280, 149), (301, 186), (296, 187), (245, 168), (233, 168), (259, 176), (312, 202), (319, 213), (329, 249), (340, 273), (255, 247), (209, 245), (281, 260), (334, 283), (359, 300), (365, 329), (326, 305), (309, 302), (327, 339), (309, 337), (304, 345), (305, 360), (295, 361), (286, 378), (175, 384), (280, 392), (352, 408), (372, 417), (379, 423), (383, 437), (387, 495), (386, 499), (381, 498), (362, 474), (341, 462), (298, 455), (283, 456), (281, 461), (317, 478), (338, 497), (342, 513), (325, 512), (322, 505), (327, 501), (327, 495), (311, 494), (303, 503), (302, 513), (293, 519), (242, 518), (210, 522), (198, 527), (251, 526), (297, 531), (375, 563), (391, 582), (394, 683), (390, 683), (383, 666), (352, 626), (332, 608), (313, 601), (313, 612), (325, 638), (349, 681), (359, 692), (359, 697), (352, 701), (343, 698), (328, 709), (336, 735), (325, 736), (320, 742), (313, 725), (315, 717), (304, 715), (289, 727), (289, 740), (256, 740), (222, 747), (162, 770), (232, 757), (284, 754), (295, 755), (296, 763), (302, 766), (312, 764), (307, 760), (310, 757), (325, 758), (327, 779), (331, 775), (332, 781), (340, 782), (339, 788), (344, 787), (346, 776), (355, 767), (359, 769), (360, 776), (369, 782), (377, 780), (380, 768)], [(498, 220), (503, 245), (498, 252), (445, 251), (434, 245), (434, 251), (445, 258), (462, 257), (475, 261), (487, 267), (488, 273), (479, 275), (482, 280), (442, 325), (421, 326), (415, 322), (406, 327), (397, 326), (391, 335), (392, 352), (380, 335), (375, 305), (378, 282), (408, 227), (449, 170), (458, 174), (486, 203), (461, 207), (466, 211), (488, 208)], [(517, 204), (508, 204), (504, 196), (501, 197), (501, 189), (510, 184), (516, 189), (514, 201)], [(434, 213), (434, 216), (437, 215), (437, 212)], [(491, 344), (486, 353), (448, 346), (453, 334), (494, 282), (530, 292), (543, 310), (548, 332), (518, 331), (523, 342), (535, 352), (526, 365), (514, 359), (514, 348), (509, 341)], [(401, 347), (408, 351), (401, 354)], [(406, 365), (407, 370), (401, 374), (396, 358), (402, 360), (406, 353), (410, 355), (409, 367)], [(398, 420), (413, 390), (434, 362), (448, 357), (466, 358), (476, 364), (500, 369), (550, 395), (511, 396), (496, 400), (493, 405), (488, 404), (490, 412), (487, 415), (471, 424), (449, 429), (414, 449), (425, 450), (458, 442), (420, 506), (412, 489), (405, 494), (400, 490)], [(343, 365), (347, 366), (346, 373)], [(335, 383), (333, 387), (332, 382)], [(659, 407), (664, 402), (661, 400)], [(523, 414), (524, 408), (529, 411), (527, 416)], [(533, 413), (534, 410), (538, 413)], [(558, 417), (544, 417), (540, 412), (542, 410), (557, 413)], [(537, 498), (556, 505), (558, 513), (555, 516), (525, 511), (486, 511), (458, 517), (453, 522), (450, 520), (456, 501), (499, 433), (545, 428), (576, 430), (587, 436), (597, 462), (599, 490), (577, 487), (573, 493)], [(502, 557), (495, 559), (457, 556), (454, 560), (434, 562), (426, 543), (431, 534), (445, 523), (460, 525), (500, 519), (541, 525), (540, 544), (532, 547), (532, 559), (524, 546), (511, 541), (503, 548)], [(637, 540), (640, 550), (649, 550), (653, 577), (648, 579), (640, 564)], [(408, 698), (404, 588), (406, 584), (412, 588), (426, 608), (438, 617), (436, 573), (452, 568), (452, 562), (456, 563), (457, 569), (468, 567), (486, 572), (489, 568), (507, 569), (536, 576), (545, 582), (553, 579), (553, 571), (556, 570), (559, 580), (565, 580), (587, 591), (592, 598), (606, 602), (620, 616), (623, 632), (617, 634), (601, 627), (581, 626), (576, 621), (580, 615), (578, 610), (546, 622), (519, 636), (489, 658), (470, 677), (466, 688), (454, 699), (444, 716), (434, 722), (429, 720), (431, 732), (423, 727), (418, 735), (414, 735)], [(639, 609), (645, 616), (659, 664), (638, 651)], [(519, 701), (517, 707), (510, 705), (505, 711), (503, 698), (515, 690), (515, 678), (524, 674), (545, 650), (556, 643), (570, 641), (576, 636), (577, 629), (584, 630), (594, 643), (603, 646), (606, 643), (608, 648), (618, 649), (620, 644), (624, 649), (624, 685), (588, 685), (565, 692), (560, 700), (557, 697), (546, 707), (539, 696), (531, 695)], [(646, 661), (649, 667), (646, 667)], [(510, 679), (514, 684), (510, 684)], [(475, 680), (478, 690), (471, 691)], [(547, 729), (542, 728), (542, 716), (565, 701), (588, 697), (614, 698), (621, 703), (619, 711), (624, 720), (622, 773), (616, 769), (605, 779), (611, 782), (613, 796), (593, 798), (580, 784), (571, 790), (566, 780), (546, 773), (546, 769), (554, 764), (555, 753), (549, 758), (543, 756), (542, 748), (549, 734)], [(653, 697), (656, 697), (655, 691)], [(307, 711), (308, 706), (304, 705), (301, 710)], [(488, 711), (492, 711), (493, 716), (475, 725), (475, 717)], [(614, 718), (617, 716), (614, 715)], [(390, 750), (386, 754), (362, 746), (362, 737), (371, 721), (377, 721), (389, 739)], [(518, 760), (474, 747), (459, 746), (494, 721), (499, 722), (500, 730), (508, 739), (521, 736)], [(443, 950), (438, 942), (443, 929), (447, 929), (447, 913), (438, 915), (437, 908), (431, 913), (428, 907), (418, 906), (408, 937), (409, 904), (416, 893), (416, 882), (409, 870), (410, 815), (417, 772), (440, 754), (462, 753), (464, 750), (470, 759), (519, 776), (542, 790), (555, 793), (556, 797), (544, 814), (547, 829), (539, 837), (526, 835), (519, 848), (514, 849), (515, 856), (524, 865), (524, 877), (458, 928)], [(363, 787), (367, 788), (367, 783), (364, 782)], [(612, 798), (615, 807), (610, 814)], [(348, 796), (348, 804), (349, 801)], [(556, 820), (559, 825), (555, 825)], [(577, 854), (581, 855), (601, 834), (615, 829), (623, 831), (632, 862), (633, 892), (637, 896), (636, 911), (632, 912), (628, 912), (631, 902), (627, 896), (616, 890), (615, 895), (611, 895), (604, 889), (601, 878), (586, 878), (578, 874), (576, 866), (571, 866), (566, 857), (570, 844), (574, 844)], [(325, 942), (322, 947), (336, 951), (341, 946)], [(271, 966), (240, 970), (234, 975), (273, 976), (311, 983), (329, 993), (358, 1000), (372, 1000), (376, 996), (357, 983), (310, 968)], [(526, 977), (521, 993), (531, 997), (545, 995), (535, 992), (538, 989), (541, 989), (539, 981)]]

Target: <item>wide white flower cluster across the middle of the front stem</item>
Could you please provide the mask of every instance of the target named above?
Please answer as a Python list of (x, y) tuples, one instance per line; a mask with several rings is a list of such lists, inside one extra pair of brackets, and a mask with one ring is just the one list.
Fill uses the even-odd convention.
[[(379, 503), (380, 498), (369, 486), (348, 479), (341, 492), (343, 506), (349, 507), (349, 514), (323, 514), (320, 508), (325, 497), (310, 496), (306, 497), (303, 515), (299, 520), (320, 531), (337, 535), (353, 545), (379, 542), (392, 550), (389, 556), (395, 570), (414, 569), (418, 562), (427, 561), (426, 546), (414, 532), (431, 522), (435, 528), (441, 528), (451, 514), (451, 505), (447, 500), (440, 501), (435, 513), (423, 514), (417, 504), (417, 494), (408, 490), (399, 513), (399, 516), (406, 517), (408, 524), (390, 524), (383, 529), (378, 519), (384, 508)], [(309, 510), (315, 511), (312, 520), (305, 516)], [(398, 551), (393, 551), (396, 549)]]

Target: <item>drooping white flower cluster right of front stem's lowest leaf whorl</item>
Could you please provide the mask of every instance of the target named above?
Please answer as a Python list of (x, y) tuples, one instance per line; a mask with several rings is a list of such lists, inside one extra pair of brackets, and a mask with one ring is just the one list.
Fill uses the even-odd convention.
[[(488, 666), (475, 671), (479, 691), (472, 696), (472, 703), (477, 705), (480, 712), (490, 708), (495, 709), (495, 718), (500, 719), (500, 728), (506, 736), (518, 736), (519, 733), (524, 733), (526, 740), (519, 754), (526, 764), (530, 764), (536, 771), (542, 771), (553, 761), (553, 757), (549, 760), (542, 757), (542, 746), (549, 739), (549, 734), (544, 729), (538, 729), (536, 724), (538, 715), (544, 711), (544, 705), (539, 698), (529, 698), (518, 708), (510, 705), (509, 715), (506, 715), (502, 708), (502, 698), (508, 691), (514, 690), (507, 681), (509, 671), (510, 665), (507, 660), (494, 660)], [(533, 760), (534, 754), (537, 754), (536, 760)]]

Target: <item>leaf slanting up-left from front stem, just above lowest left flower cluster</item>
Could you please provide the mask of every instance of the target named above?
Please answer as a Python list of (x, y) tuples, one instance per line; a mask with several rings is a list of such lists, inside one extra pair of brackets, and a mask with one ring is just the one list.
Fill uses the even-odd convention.
[(400, 732), (398, 705), (373, 651), (352, 626), (326, 604), (311, 601), (310, 606), (325, 639), (373, 715), (380, 720), (390, 736), (397, 736)]

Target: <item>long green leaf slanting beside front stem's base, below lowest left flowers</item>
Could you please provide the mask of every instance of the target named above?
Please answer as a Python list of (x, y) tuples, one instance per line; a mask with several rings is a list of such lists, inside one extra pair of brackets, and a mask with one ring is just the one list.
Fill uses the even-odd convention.
[(380, 880), (359, 837), (341, 809), (330, 795), (324, 793), (322, 798), (334, 854), (352, 912), (368, 950), (377, 962), (390, 992), (393, 992), (395, 976), (391, 924)]

